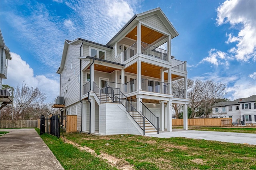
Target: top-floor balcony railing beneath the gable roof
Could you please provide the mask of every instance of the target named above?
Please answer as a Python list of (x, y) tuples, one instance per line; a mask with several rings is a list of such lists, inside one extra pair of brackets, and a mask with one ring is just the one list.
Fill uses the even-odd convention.
[[(137, 54), (137, 43), (134, 43), (131, 47), (126, 49), (124, 52), (124, 61), (130, 59)], [(156, 59), (169, 61), (168, 51), (154, 47), (153, 45), (141, 42), (141, 53), (149, 57), (154, 57)], [(119, 54), (120, 55), (120, 54)], [(118, 55), (118, 56), (119, 56)]]

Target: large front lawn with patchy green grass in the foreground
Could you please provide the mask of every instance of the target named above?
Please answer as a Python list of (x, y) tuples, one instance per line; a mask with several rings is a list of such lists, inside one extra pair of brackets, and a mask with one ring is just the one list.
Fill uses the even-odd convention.
[[(96, 155), (79, 150), (78, 145), (42, 135), (46, 145), (65, 169), (116, 169), (125, 164), (137, 170), (256, 170), (256, 146), (186, 138), (161, 139), (137, 135), (94, 136), (65, 133), (65, 138)], [(97, 154), (118, 159), (116, 168)]]

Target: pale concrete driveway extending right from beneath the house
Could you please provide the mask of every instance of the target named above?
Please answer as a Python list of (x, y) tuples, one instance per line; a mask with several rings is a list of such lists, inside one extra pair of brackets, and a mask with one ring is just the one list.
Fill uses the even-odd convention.
[[(160, 131), (157, 135), (147, 135), (150, 137), (170, 138), (186, 137), (192, 139), (205, 139), (210, 141), (221, 141), (230, 143), (242, 143), (256, 145), (255, 133), (234, 133), (234, 132), (214, 132), (172, 129), (172, 132)], [(256, 131), (256, 129), (255, 129)]]

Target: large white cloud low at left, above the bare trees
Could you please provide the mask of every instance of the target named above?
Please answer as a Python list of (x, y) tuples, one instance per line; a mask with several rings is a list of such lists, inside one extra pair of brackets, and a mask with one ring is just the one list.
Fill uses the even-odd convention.
[(38, 87), (41, 92), (46, 93), (46, 103), (53, 102), (59, 95), (59, 82), (57, 78), (47, 78), (44, 75), (34, 75), (34, 70), (20, 55), (11, 53), (12, 60), (8, 62), (8, 79), (3, 79), (3, 84), (16, 87), (21, 86), (24, 81), (28, 86)]

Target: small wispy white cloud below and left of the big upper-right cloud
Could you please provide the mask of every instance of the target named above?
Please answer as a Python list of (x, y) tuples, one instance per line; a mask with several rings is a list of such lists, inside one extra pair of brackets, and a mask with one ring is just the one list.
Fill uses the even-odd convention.
[(229, 66), (228, 59), (230, 59), (230, 57), (228, 57), (227, 53), (224, 53), (216, 49), (211, 49), (209, 51), (209, 56), (202, 59), (202, 61), (200, 61), (200, 64), (206, 61), (216, 66), (218, 66), (219, 64), (225, 64), (226, 66)]

